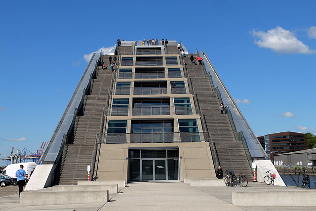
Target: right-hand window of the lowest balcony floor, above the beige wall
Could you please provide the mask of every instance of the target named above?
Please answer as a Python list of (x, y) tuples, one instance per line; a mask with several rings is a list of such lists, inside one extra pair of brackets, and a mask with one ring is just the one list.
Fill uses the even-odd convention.
[(197, 120), (178, 120), (181, 142), (200, 142)]

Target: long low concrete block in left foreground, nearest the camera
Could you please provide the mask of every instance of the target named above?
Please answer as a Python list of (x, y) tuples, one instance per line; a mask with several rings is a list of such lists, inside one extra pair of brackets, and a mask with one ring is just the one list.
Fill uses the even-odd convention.
[(21, 193), (20, 204), (23, 206), (89, 204), (107, 203), (108, 200), (108, 190), (29, 191)]

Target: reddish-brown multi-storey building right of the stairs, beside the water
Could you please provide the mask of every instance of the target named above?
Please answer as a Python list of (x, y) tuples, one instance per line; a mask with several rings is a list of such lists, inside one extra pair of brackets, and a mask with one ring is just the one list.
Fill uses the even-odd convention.
[(271, 161), (274, 155), (307, 149), (307, 136), (299, 132), (278, 132), (257, 137), (260, 143), (264, 140), (264, 149)]

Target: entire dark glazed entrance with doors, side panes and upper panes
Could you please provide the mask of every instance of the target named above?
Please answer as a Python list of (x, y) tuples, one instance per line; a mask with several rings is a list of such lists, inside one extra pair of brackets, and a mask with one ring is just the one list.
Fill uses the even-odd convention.
[(129, 180), (178, 180), (178, 149), (129, 150)]

